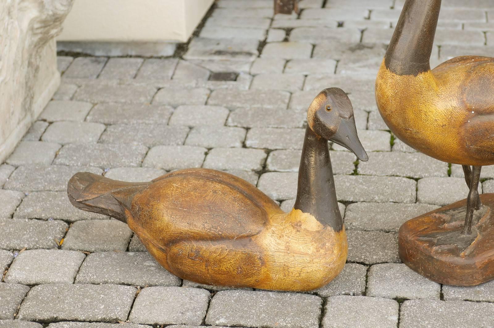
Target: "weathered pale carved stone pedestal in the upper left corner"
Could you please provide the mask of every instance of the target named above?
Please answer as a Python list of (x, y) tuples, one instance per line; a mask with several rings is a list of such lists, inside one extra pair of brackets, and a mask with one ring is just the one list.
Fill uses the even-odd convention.
[(72, 2), (0, 1), (0, 163), (58, 88), (54, 37)]

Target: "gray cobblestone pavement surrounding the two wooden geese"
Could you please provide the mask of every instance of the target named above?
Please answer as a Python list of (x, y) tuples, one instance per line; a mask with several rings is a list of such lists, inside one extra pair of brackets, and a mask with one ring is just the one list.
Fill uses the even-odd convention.
[[(461, 167), (414, 152), (376, 112), (373, 82), (403, 1), (302, 0), (298, 16), (273, 16), (272, 2), (218, 0), (171, 58), (58, 58), (59, 90), (0, 166), (1, 328), (494, 327), (494, 281), (441, 286), (398, 257), (405, 220), (467, 193)], [(443, 0), (433, 65), (492, 55), (491, 17), (492, 0)], [(123, 223), (68, 202), (77, 171), (141, 181), (202, 166), (246, 179), (288, 210), (304, 111), (329, 86), (349, 93), (370, 160), (332, 147), (349, 255), (326, 287), (182, 281)], [(493, 167), (482, 174), (479, 189), (494, 192)]]

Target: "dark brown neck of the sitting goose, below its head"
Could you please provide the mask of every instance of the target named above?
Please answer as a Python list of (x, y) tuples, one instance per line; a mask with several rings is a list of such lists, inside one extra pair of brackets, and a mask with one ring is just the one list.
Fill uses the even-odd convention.
[(334, 188), (333, 170), (328, 142), (307, 126), (298, 169), (298, 189), (295, 209), (310, 213), (322, 224), (338, 232), (343, 220)]

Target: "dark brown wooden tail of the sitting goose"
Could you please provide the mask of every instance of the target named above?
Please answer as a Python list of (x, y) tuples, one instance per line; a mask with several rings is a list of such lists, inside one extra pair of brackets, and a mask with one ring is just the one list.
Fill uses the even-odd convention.
[(67, 185), (72, 205), (127, 222), (125, 209), (130, 209), (134, 195), (151, 182), (123, 182), (89, 172), (74, 174)]

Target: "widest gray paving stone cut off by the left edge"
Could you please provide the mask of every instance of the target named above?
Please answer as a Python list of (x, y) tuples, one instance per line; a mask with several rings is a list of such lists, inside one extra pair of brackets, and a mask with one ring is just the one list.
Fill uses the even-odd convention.
[(68, 227), (60, 220), (0, 219), (0, 248), (57, 248)]

